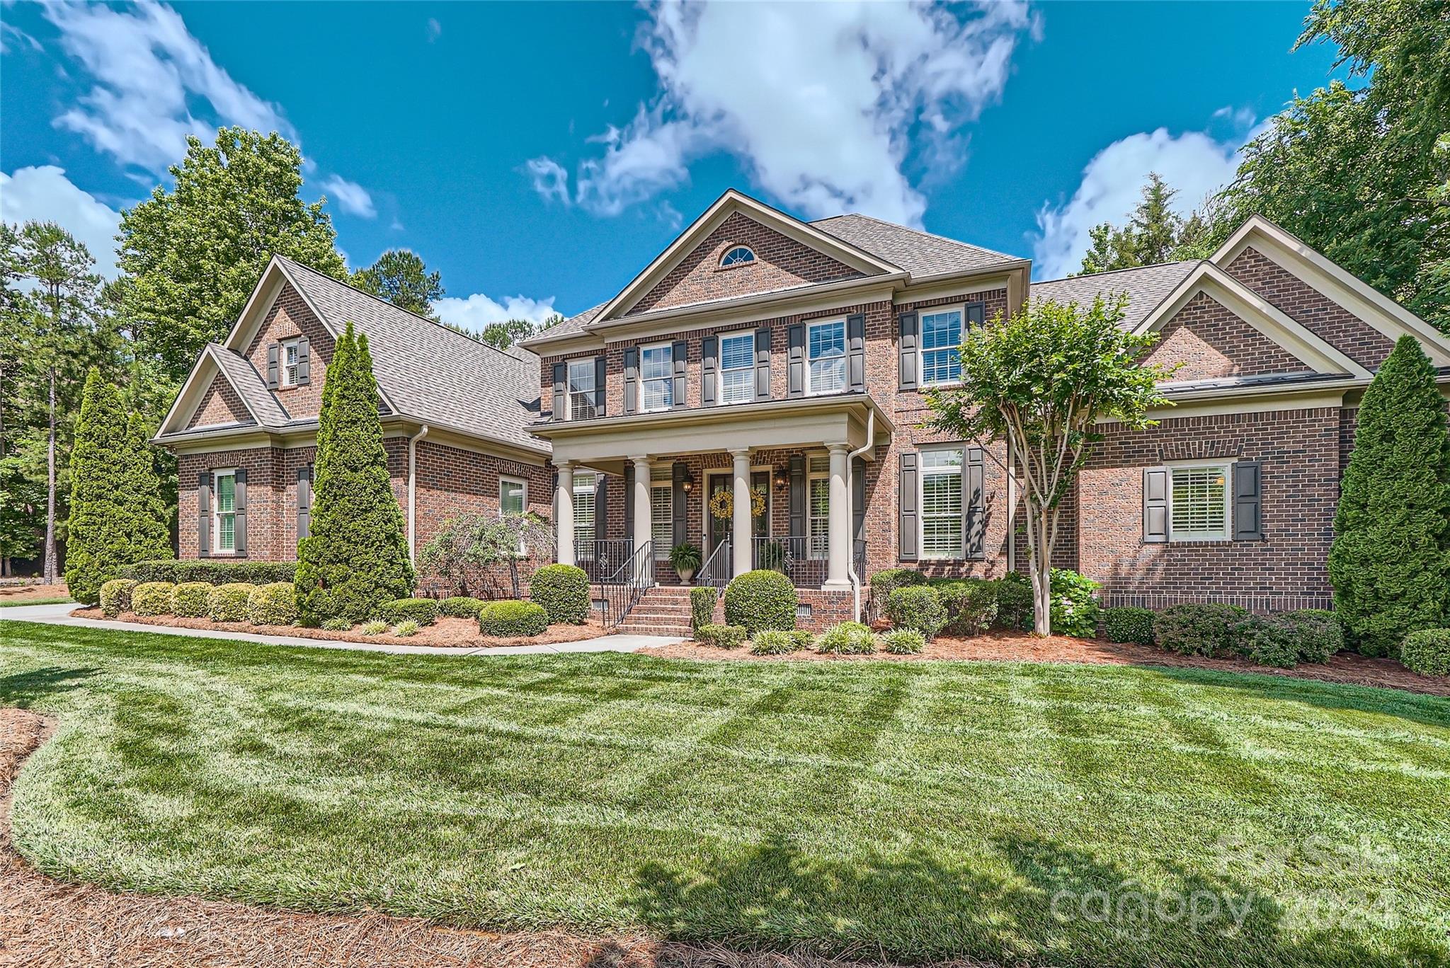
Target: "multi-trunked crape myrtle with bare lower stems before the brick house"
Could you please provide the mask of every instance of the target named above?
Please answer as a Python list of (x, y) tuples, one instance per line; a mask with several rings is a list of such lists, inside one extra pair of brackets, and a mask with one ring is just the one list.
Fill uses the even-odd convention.
[[(1051, 561), (1061, 501), (1102, 435), (1102, 419), (1141, 430), (1167, 403), (1157, 388), (1172, 370), (1141, 362), (1157, 336), (1118, 326), (1125, 297), (1092, 306), (1030, 303), (977, 326), (961, 343), (961, 383), (928, 390), (927, 426), (976, 441), (1022, 481), (1032, 578), (1032, 630), (1051, 635)], [(992, 446), (1005, 442), (1006, 468)]]

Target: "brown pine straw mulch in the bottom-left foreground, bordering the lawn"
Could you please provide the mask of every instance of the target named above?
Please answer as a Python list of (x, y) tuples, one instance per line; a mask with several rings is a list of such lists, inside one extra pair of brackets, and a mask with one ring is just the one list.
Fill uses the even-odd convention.
[[(154, 897), (67, 884), (35, 871), (10, 846), (10, 785), (54, 723), (0, 709), (0, 965), (58, 968), (252, 968), (487, 965), (499, 968), (889, 968), (783, 952), (741, 952), (644, 936), (566, 932), (493, 933), (439, 927), (416, 917), (303, 914)], [(987, 968), (953, 961), (938, 968)]]

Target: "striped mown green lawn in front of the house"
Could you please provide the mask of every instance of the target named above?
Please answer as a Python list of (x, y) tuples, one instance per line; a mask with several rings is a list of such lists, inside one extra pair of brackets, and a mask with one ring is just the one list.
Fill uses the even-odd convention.
[(905, 959), (1450, 964), (1443, 698), (3, 622), (0, 704), (61, 722), (17, 846), (117, 888)]

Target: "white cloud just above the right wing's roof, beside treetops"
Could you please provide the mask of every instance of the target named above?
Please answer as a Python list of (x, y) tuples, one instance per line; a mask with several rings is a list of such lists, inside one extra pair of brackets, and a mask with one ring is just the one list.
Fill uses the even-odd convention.
[(1215, 117), (1231, 116), (1240, 133), (1218, 141), (1205, 132), (1170, 135), (1167, 129), (1140, 132), (1112, 142), (1083, 168), (1082, 184), (1060, 206), (1045, 204), (1037, 213), (1038, 238), (1032, 242), (1032, 262), (1038, 278), (1051, 280), (1076, 272), (1090, 245), (1093, 226), (1122, 225), (1138, 204), (1148, 172), (1159, 172), (1177, 190), (1173, 209), (1182, 216), (1201, 206), (1234, 177), (1240, 149), (1262, 128), (1243, 133), (1253, 116), (1224, 109)]

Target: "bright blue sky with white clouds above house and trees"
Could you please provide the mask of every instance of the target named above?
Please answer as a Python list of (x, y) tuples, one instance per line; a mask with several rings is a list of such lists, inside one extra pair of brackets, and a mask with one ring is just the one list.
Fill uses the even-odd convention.
[(1189, 207), (1333, 49), (1306, 3), (4, 3), (0, 214), (103, 254), (187, 130), (278, 128), (349, 264), (445, 317), (610, 297), (728, 187), (1070, 271), (1150, 170)]

